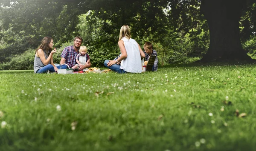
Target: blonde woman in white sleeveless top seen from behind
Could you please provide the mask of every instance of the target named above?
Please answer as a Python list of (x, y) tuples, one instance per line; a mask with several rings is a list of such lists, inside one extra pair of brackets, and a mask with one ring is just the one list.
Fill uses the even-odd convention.
[(141, 73), (141, 60), (145, 57), (140, 45), (131, 38), (128, 25), (120, 29), (118, 46), (121, 51), (120, 57), (115, 60), (105, 60), (104, 65), (117, 73)]

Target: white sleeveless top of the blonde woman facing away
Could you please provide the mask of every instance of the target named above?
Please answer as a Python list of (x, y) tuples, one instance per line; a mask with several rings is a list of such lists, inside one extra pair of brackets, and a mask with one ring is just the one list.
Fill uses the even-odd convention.
[(138, 43), (134, 39), (123, 37), (127, 57), (121, 61), (120, 69), (131, 73), (141, 73), (141, 57)]

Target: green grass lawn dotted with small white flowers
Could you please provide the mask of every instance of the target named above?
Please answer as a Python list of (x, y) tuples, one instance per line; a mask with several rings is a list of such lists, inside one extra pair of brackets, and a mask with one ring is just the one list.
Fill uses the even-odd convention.
[(254, 151), (255, 71), (1, 71), (0, 151)]

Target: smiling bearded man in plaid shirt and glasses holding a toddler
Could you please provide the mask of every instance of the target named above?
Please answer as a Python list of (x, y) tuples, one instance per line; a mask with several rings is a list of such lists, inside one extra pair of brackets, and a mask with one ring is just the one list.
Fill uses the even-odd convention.
[[(67, 64), (70, 68), (76, 65), (76, 56), (79, 54), (79, 48), (81, 44), (83, 43), (83, 38), (80, 36), (76, 36), (74, 39), (74, 45), (73, 46), (67, 46), (64, 48), (64, 50), (61, 53), (61, 68), (68, 68), (66, 65), (62, 64)], [(89, 62), (88, 65), (82, 65), (79, 67), (79, 71), (83, 70), (84, 68), (90, 68), (91, 63)], [(57, 67), (57, 68), (60, 68)]]

